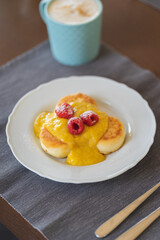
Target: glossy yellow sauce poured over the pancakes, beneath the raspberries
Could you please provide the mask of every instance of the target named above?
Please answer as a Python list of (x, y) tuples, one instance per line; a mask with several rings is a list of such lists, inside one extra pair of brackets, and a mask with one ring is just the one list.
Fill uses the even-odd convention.
[(74, 117), (79, 117), (85, 111), (94, 111), (99, 121), (93, 126), (84, 125), (84, 130), (79, 135), (72, 135), (68, 128), (68, 119), (59, 118), (56, 113), (41, 113), (34, 122), (34, 132), (37, 137), (42, 128), (46, 128), (53, 136), (63, 143), (68, 144), (70, 152), (66, 163), (74, 166), (84, 166), (99, 163), (105, 159), (96, 145), (108, 129), (108, 115), (101, 112), (91, 103), (74, 101), (70, 103), (74, 110)]

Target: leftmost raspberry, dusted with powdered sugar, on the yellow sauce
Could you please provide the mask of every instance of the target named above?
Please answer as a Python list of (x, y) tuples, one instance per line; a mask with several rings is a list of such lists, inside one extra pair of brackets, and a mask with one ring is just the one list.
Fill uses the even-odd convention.
[(74, 115), (73, 108), (68, 103), (63, 103), (62, 105), (58, 106), (55, 109), (55, 112), (58, 117), (66, 119), (69, 119)]

